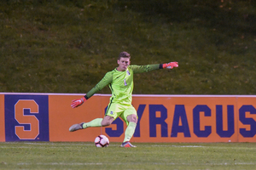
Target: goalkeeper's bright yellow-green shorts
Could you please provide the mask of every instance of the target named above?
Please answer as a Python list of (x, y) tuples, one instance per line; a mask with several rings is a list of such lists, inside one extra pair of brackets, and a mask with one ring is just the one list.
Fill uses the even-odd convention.
[(108, 105), (108, 109), (105, 113), (105, 116), (112, 116), (113, 120), (118, 118), (119, 116), (125, 121), (126, 125), (128, 125), (127, 116), (136, 115), (137, 111), (132, 105), (122, 105), (118, 103), (110, 103)]

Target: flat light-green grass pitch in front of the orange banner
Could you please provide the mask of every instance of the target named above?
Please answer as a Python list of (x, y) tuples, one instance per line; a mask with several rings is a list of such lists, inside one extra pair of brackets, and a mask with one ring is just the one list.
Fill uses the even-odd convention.
[(0, 169), (255, 169), (253, 143), (0, 143)]

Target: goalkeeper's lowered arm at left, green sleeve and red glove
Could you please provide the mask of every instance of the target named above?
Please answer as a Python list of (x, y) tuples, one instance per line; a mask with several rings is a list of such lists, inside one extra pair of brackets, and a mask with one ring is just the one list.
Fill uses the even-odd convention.
[(71, 102), (71, 107), (76, 108), (79, 105), (83, 105), (84, 101), (89, 99), (91, 96), (96, 94), (96, 92), (100, 91), (102, 88), (104, 88), (105, 86), (107, 86), (111, 82), (112, 82), (112, 74), (108, 72), (105, 75), (105, 77), (103, 77), (102, 80), (96, 84), (96, 86), (94, 88), (91, 88), (90, 91), (86, 95), (84, 95), (83, 98), (74, 99)]

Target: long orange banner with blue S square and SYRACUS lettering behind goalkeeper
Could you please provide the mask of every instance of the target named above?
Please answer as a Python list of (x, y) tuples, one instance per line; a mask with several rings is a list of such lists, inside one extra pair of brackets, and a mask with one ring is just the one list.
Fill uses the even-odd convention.
[[(0, 94), (0, 142), (90, 141), (104, 134), (122, 142), (126, 124), (76, 132), (75, 123), (103, 118), (109, 94), (95, 94), (73, 109), (83, 94)], [(256, 142), (256, 96), (133, 95), (137, 127), (131, 142)]]

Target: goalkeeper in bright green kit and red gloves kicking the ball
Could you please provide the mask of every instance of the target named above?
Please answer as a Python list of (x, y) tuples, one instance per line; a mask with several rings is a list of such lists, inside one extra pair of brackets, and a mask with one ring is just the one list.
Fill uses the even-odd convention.
[(173, 67), (178, 67), (178, 64), (177, 62), (171, 62), (157, 65), (130, 65), (130, 59), (130, 54), (121, 52), (117, 60), (118, 67), (113, 69), (113, 71), (109, 71), (82, 99), (74, 99), (72, 101), (71, 106), (76, 108), (107, 85), (112, 91), (112, 97), (110, 98), (104, 118), (96, 118), (90, 122), (74, 124), (69, 127), (70, 132), (87, 127), (106, 127), (120, 116), (127, 125), (125, 129), (125, 139), (120, 146), (136, 147), (130, 143), (130, 139), (137, 126), (137, 111), (131, 105), (133, 74), (165, 68), (172, 69)]

